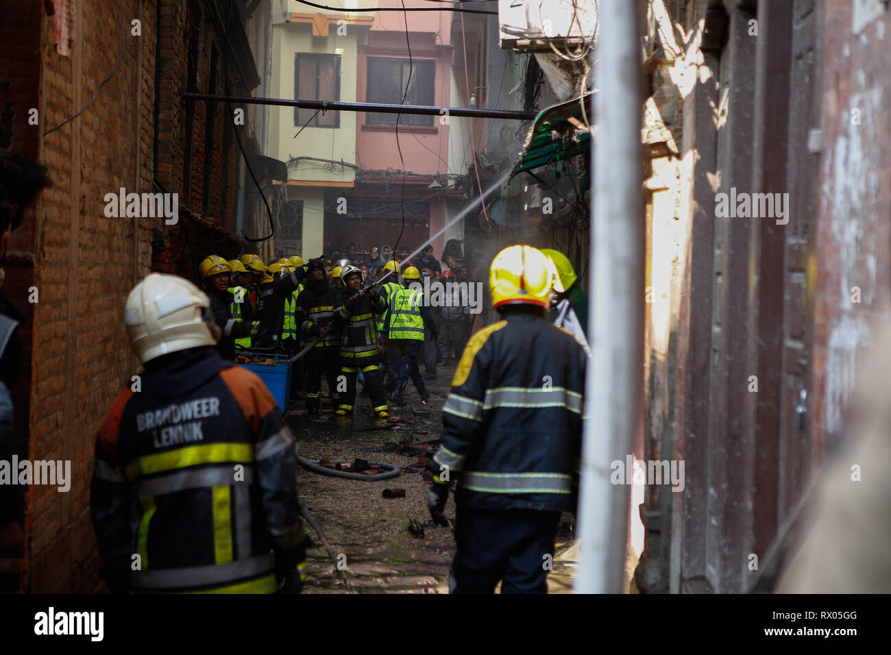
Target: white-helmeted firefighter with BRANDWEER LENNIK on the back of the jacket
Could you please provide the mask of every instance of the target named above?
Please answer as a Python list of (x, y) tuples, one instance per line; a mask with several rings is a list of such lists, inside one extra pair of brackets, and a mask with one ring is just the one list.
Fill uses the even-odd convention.
[(296, 444), (274, 398), (218, 355), (192, 282), (149, 275), (124, 320), (144, 372), (99, 426), (90, 494), (110, 590), (272, 593), (279, 570), (299, 592)]

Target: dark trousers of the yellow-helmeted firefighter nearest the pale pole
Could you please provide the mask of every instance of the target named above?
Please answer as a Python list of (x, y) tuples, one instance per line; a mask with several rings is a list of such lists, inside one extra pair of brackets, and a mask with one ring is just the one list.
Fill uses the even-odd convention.
[[(547, 594), (560, 512), (458, 506), (452, 594)], [(546, 557), (549, 555), (549, 557)]]

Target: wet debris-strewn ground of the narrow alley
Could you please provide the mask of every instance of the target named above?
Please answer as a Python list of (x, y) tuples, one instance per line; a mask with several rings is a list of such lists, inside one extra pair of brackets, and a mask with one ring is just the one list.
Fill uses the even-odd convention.
[[(339, 479), (300, 471), (301, 500), (323, 530), (334, 553), (346, 556), (346, 582), (338, 575), (315, 531), (309, 549), (308, 582), (305, 593), (409, 593), (446, 594), (449, 564), (454, 556), (450, 528), (435, 526), (427, 512), (429, 483), (421, 478), (421, 455), (428, 446), (429, 456), (437, 445), (442, 428), (442, 406), (451, 386), (454, 364), (439, 366), (437, 380), (427, 381), (429, 405), (421, 400), (409, 382), (405, 407), (391, 407), (391, 420), (372, 420), (367, 396), (357, 397), (356, 418), (351, 422), (331, 417), (309, 421), (302, 402), (291, 403), (286, 419), (298, 440), (300, 454), (308, 460), (324, 457), (353, 460), (356, 457), (398, 464), (403, 472), (380, 481)], [(326, 406), (330, 407), (330, 400)], [(396, 420), (394, 420), (396, 419)], [(402, 446), (403, 453), (396, 450)], [(405, 453), (411, 446), (411, 454)], [(384, 489), (405, 489), (405, 497), (384, 498)], [(454, 498), (449, 499), (446, 516), (454, 520)], [(423, 527), (423, 536), (413, 536), (411, 520)], [(564, 514), (560, 522), (556, 557), (548, 585), (551, 593), (568, 593), (577, 552), (572, 542), (572, 518)], [(344, 561), (343, 558), (340, 558)]]

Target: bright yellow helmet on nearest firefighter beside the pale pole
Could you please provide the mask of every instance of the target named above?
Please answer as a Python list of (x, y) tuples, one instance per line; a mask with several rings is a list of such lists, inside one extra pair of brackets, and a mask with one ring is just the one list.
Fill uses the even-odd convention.
[(541, 250), (509, 246), (495, 255), (489, 267), (492, 305), (548, 307), (556, 275), (557, 269)]

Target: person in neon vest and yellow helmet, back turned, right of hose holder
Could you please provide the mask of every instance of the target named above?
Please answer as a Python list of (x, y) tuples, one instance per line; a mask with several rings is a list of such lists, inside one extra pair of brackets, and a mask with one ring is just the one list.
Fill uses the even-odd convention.
[(418, 370), (418, 357), (423, 353), (424, 330), (428, 330), (435, 340), (437, 338), (437, 326), (430, 317), (430, 308), (424, 302), (424, 294), (420, 289), (407, 289), (406, 284), (412, 284), (421, 279), (421, 273), (414, 266), (409, 266), (402, 274), (403, 282), (399, 289), (392, 291), (389, 296), (389, 324), (388, 324), (388, 348), (390, 355), (399, 360), (399, 373), (396, 375), (396, 389), (390, 395), (390, 402), (400, 407), (405, 406), (405, 398), (402, 396), (409, 377), (412, 378), (414, 388), (421, 395), (421, 403), (427, 405), (430, 394), (421, 379), (421, 371)]

